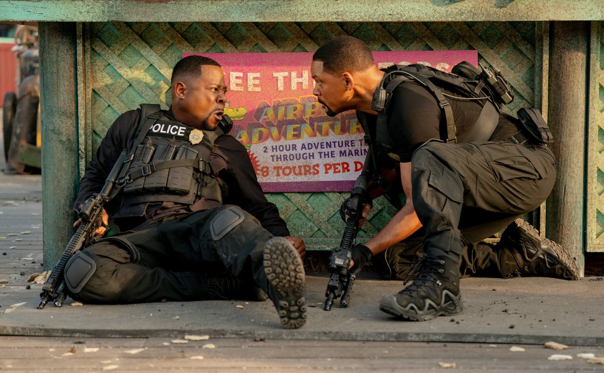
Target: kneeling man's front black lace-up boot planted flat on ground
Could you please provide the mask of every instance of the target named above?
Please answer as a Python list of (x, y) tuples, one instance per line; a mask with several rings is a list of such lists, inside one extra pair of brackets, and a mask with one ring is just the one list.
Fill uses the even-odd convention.
[(454, 257), (457, 255), (437, 257), (426, 253), (417, 263), (420, 267), (415, 281), (398, 294), (382, 298), (379, 309), (414, 321), (462, 313), (458, 260)]

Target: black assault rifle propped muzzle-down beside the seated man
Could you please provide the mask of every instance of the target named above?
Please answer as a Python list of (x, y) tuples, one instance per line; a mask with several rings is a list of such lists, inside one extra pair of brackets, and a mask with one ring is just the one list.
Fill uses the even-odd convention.
[[(82, 222), (80, 222), (80, 226), (76, 233), (72, 235), (71, 240), (69, 240), (67, 247), (63, 250), (61, 257), (59, 258), (59, 261), (54, 266), (53, 272), (51, 272), (46, 283), (42, 287), (40, 303), (37, 307), (40, 310), (44, 308), (51, 299), (53, 299), (54, 305), (57, 307), (61, 307), (63, 302), (65, 302), (65, 298), (67, 298), (65, 292), (65, 278), (63, 277), (65, 265), (74, 253), (81, 250), (83, 247), (88, 246), (94, 239), (94, 231), (98, 228), (104, 205), (115, 197), (123, 185), (123, 183), (118, 181), (118, 176), (121, 176), (120, 179), (123, 177), (124, 172), (122, 171), (122, 168), (127, 170), (130, 163), (131, 158), (126, 159), (126, 155), (126, 150), (121, 152), (120, 157), (115, 162), (100, 193), (93, 194), (92, 197), (80, 205), (78, 216), (82, 219)], [(124, 163), (127, 163), (128, 165), (124, 165)], [(122, 172), (120, 173), (120, 171)], [(116, 184), (117, 188), (114, 188), (114, 185)]]

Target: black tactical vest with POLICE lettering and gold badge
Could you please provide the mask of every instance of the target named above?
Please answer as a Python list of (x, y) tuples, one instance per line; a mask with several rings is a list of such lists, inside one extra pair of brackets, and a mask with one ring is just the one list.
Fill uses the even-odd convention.
[(167, 118), (159, 105), (141, 104), (122, 204), (191, 205), (199, 198), (222, 203), (220, 185), (208, 161), (214, 141), (228, 133), (232, 123), (225, 116), (214, 131), (194, 129)]

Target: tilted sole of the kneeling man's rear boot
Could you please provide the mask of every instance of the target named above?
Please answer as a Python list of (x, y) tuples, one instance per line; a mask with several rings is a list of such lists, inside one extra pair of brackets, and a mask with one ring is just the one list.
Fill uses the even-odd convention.
[[(573, 281), (579, 278), (579, 268), (573, 258), (571, 258), (570, 253), (568, 253), (564, 247), (547, 238), (540, 237), (539, 231), (521, 218), (516, 219), (514, 223), (519, 228), (519, 244), (522, 247), (522, 256), (526, 261), (530, 262), (538, 260), (539, 257), (543, 258), (543, 254), (545, 254), (545, 258), (543, 258), (545, 263), (547, 263), (550, 269), (556, 271), (557, 276)], [(529, 251), (527, 250), (526, 241), (532, 242), (533, 246), (538, 249), (537, 253), (532, 258), (528, 257)], [(541, 242), (545, 243), (548, 247), (541, 247)], [(549, 266), (551, 260), (548, 257), (556, 258), (556, 261), (559, 263)]]

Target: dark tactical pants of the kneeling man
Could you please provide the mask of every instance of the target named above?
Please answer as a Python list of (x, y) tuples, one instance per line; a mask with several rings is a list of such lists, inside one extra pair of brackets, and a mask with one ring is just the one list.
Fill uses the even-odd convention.
[(414, 153), (411, 164), (423, 238), (402, 242), (400, 258), (390, 258), (396, 273), (406, 272), (424, 251), (460, 257), (461, 276), (495, 275), (496, 246), (477, 243), (541, 205), (556, 180), (554, 156), (544, 145), (432, 141)]

